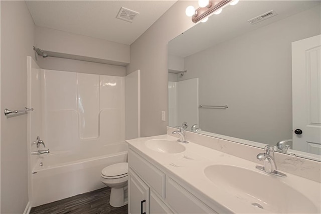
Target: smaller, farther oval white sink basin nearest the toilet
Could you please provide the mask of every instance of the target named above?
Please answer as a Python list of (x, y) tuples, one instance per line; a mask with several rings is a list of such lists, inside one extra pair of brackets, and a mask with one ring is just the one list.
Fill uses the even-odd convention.
[(152, 139), (145, 142), (147, 148), (156, 152), (162, 153), (180, 153), (185, 151), (185, 146), (179, 144), (177, 141), (170, 141), (164, 139)]

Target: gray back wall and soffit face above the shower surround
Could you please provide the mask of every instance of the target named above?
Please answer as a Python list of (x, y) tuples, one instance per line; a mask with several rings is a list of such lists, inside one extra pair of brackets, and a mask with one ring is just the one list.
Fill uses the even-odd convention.
[[(51, 52), (99, 58), (110, 62), (129, 63), (129, 45), (88, 36), (35, 27), (35, 46)], [(43, 69), (125, 76), (126, 67), (58, 57), (37, 57)]]

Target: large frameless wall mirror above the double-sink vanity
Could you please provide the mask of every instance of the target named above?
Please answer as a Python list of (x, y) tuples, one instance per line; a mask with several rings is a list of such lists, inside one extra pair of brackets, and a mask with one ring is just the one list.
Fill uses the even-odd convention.
[(320, 161), (320, 14), (240, 1), (170, 41), (169, 126)]

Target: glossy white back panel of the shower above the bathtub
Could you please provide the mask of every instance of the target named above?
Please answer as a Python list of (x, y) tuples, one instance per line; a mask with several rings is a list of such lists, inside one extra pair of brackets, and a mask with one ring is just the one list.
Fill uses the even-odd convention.
[(43, 70), (41, 138), (51, 152), (125, 140), (124, 77)]

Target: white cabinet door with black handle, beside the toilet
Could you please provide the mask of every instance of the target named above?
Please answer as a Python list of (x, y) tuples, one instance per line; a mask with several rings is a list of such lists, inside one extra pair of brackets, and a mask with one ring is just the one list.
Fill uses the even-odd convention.
[(128, 169), (128, 213), (149, 214), (149, 187)]

